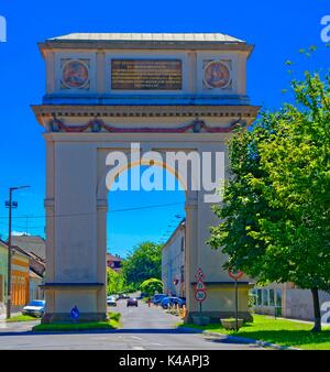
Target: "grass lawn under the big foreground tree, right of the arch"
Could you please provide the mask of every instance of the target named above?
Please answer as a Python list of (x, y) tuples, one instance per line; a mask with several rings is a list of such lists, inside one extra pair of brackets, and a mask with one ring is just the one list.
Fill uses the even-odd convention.
[(286, 319), (274, 319), (268, 316), (253, 315), (254, 322), (245, 324), (238, 332), (229, 331), (220, 324), (199, 327), (182, 325), (222, 335), (239, 336), (285, 347), (306, 350), (330, 350), (330, 327), (323, 327), (322, 332), (311, 333), (312, 325)]

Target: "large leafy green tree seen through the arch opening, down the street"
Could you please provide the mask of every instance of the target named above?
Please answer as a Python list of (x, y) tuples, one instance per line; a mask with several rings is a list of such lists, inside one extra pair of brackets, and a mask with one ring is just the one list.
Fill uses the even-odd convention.
[(139, 244), (124, 261), (122, 273), (125, 283), (134, 289), (151, 277), (161, 280), (162, 245), (153, 242)]

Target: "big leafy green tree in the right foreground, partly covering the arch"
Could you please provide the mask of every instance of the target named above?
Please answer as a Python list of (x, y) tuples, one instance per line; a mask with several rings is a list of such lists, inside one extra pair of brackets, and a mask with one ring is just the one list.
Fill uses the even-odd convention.
[(227, 269), (311, 289), (320, 331), (318, 291), (330, 289), (330, 76), (306, 73), (292, 88), (295, 105), (233, 136), (232, 177), (215, 208), (222, 223), (209, 243), (229, 255)]

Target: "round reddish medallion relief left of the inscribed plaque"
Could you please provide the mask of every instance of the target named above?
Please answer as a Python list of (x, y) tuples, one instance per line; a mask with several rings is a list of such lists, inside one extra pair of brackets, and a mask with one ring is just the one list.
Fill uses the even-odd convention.
[(62, 69), (62, 81), (67, 88), (84, 88), (89, 81), (88, 67), (81, 61), (68, 61)]

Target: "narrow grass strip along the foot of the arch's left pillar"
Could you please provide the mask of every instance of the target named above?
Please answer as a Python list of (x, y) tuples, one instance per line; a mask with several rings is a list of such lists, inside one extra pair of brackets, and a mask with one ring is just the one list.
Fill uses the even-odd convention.
[(52, 325), (37, 325), (33, 327), (34, 331), (81, 331), (95, 329), (117, 329), (120, 327), (120, 314), (109, 313), (107, 321), (90, 321), (90, 322), (61, 322)]

